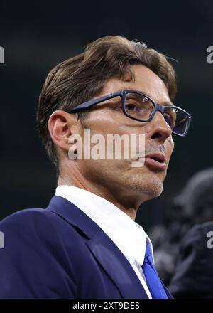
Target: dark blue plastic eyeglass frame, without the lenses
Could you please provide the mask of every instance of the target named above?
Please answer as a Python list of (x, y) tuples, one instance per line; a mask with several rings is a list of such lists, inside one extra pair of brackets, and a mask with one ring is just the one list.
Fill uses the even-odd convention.
[[(139, 119), (137, 117), (133, 117), (131, 115), (128, 115), (128, 113), (126, 113), (126, 110), (125, 110), (125, 100), (126, 100), (126, 95), (128, 93), (136, 93), (138, 95), (142, 95), (143, 97), (146, 97), (148, 100), (150, 100), (153, 103), (153, 112), (151, 112), (151, 115), (148, 117), (148, 119), (145, 119), (145, 120), (144, 119)], [(171, 129), (171, 130), (172, 130), (173, 134), (176, 134), (176, 135), (178, 135), (180, 137), (185, 137), (185, 135), (187, 134), (188, 129), (190, 127), (190, 123), (192, 121), (192, 117), (191, 117), (190, 113), (188, 113), (187, 111), (181, 109), (180, 107), (176, 107), (175, 105), (159, 105), (157, 102), (155, 102), (153, 99), (151, 99), (151, 97), (148, 97), (148, 95), (146, 95), (146, 94), (144, 94), (142, 92), (136, 91), (136, 90), (122, 89), (122, 90), (116, 91), (114, 93), (110, 93), (109, 95), (104, 95), (102, 97), (97, 97), (95, 99), (83, 102), (80, 105), (77, 105), (72, 110), (70, 110), (69, 113), (76, 113), (76, 112), (79, 112), (80, 110), (89, 109), (89, 107), (93, 107), (94, 105), (97, 105), (100, 102), (103, 102), (103, 101), (106, 101), (106, 100), (110, 100), (111, 98), (114, 98), (114, 97), (117, 97), (117, 96), (121, 97), (121, 104), (122, 104), (122, 110), (123, 110), (124, 115), (126, 115), (126, 117), (129, 117), (129, 118), (131, 118), (133, 120), (136, 120), (136, 121), (139, 121), (139, 122), (150, 122), (152, 120), (152, 118), (154, 117), (155, 112), (157, 112), (157, 111), (161, 112), (161, 114), (164, 117), (164, 111), (168, 107), (182, 111), (183, 113), (185, 113), (185, 115), (187, 117), (187, 125), (186, 125), (186, 128), (185, 128), (185, 132), (183, 134), (178, 134), (177, 132), (174, 132), (173, 129)]]

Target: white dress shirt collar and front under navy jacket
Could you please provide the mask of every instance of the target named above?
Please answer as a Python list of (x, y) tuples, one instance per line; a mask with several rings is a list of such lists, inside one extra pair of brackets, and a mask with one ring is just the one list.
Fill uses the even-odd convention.
[[(151, 240), (143, 228), (113, 203), (94, 193), (75, 186), (62, 185), (56, 188), (56, 196), (61, 196), (75, 204), (89, 218), (104, 230), (115, 243), (136, 272), (149, 298), (151, 293), (146, 285), (141, 265), (146, 251), (146, 240)], [(151, 244), (152, 248), (152, 244)]]

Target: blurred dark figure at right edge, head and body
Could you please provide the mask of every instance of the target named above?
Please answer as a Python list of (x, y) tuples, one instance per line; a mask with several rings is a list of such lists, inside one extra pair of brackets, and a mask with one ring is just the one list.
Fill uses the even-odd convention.
[[(195, 173), (175, 203), (185, 218), (170, 282), (175, 298), (213, 298), (213, 168)], [(183, 224), (183, 223), (182, 223)], [(181, 226), (179, 226), (180, 228)], [(179, 233), (182, 232), (179, 229)], [(182, 240), (180, 240), (182, 239)]]

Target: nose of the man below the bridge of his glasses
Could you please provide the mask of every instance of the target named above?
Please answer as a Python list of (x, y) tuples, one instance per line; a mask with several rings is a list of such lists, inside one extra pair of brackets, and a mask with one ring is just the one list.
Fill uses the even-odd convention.
[(165, 122), (164, 117), (161, 112), (155, 112), (152, 120), (148, 122), (148, 135), (151, 139), (155, 141), (164, 143), (165, 140), (172, 134), (172, 129)]

